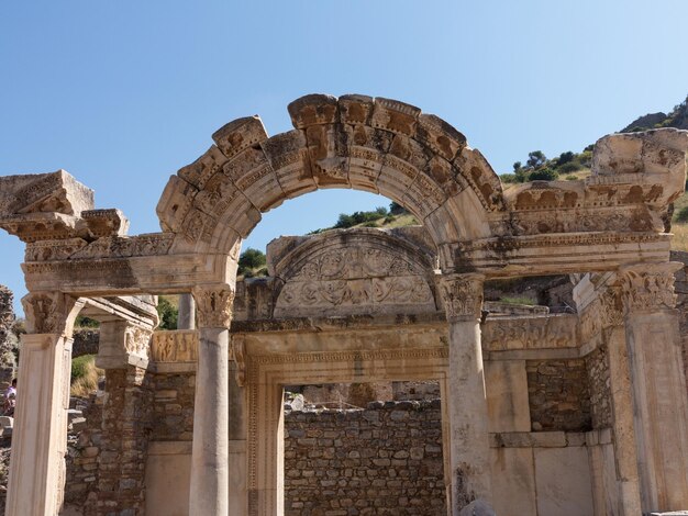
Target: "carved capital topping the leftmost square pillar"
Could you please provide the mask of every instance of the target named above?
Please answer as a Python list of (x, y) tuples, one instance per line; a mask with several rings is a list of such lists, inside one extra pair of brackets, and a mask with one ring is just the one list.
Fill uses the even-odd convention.
[(22, 298), (26, 326), (32, 334), (71, 336), (78, 300), (62, 292), (31, 292)]

